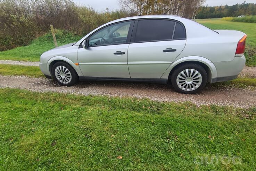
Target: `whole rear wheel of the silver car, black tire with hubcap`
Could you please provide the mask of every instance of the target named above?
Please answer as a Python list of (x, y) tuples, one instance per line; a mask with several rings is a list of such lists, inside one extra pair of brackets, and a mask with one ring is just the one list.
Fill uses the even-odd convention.
[(196, 63), (186, 63), (172, 72), (171, 82), (177, 92), (195, 94), (203, 90), (207, 83), (207, 78), (207, 72), (204, 67)]

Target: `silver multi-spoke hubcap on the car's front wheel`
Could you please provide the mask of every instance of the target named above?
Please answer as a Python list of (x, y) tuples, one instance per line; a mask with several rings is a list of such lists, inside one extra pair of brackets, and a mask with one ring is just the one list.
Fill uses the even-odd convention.
[(55, 76), (60, 83), (68, 84), (71, 82), (71, 72), (64, 66), (58, 66), (55, 68)]

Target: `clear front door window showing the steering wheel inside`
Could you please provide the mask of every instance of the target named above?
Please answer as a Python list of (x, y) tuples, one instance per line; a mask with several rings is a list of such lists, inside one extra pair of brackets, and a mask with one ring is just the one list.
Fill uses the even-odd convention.
[(89, 38), (90, 46), (126, 43), (131, 22), (113, 24), (100, 29)]

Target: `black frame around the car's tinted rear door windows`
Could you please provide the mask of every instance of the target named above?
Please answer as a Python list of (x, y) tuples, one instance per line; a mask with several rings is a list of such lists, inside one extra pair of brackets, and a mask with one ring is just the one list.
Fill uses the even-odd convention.
[[(137, 33), (139, 20), (156, 20), (156, 19), (157, 20), (169, 20), (169, 21), (175, 22), (172, 38), (174, 36), (174, 32), (175, 32), (175, 28), (176, 28), (176, 23), (181, 24), (181, 26), (183, 27), (185, 38), (182, 38), (182, 39), (164, 39), (164, 40), (151, 40), (151, 41), (135, 42), (135, 36), (136, 36), (136, 33)], [(134, 23), (133, 28), (134, 29), (133, 29), (133, 32), (132, 32), (132, 37), (131, 37), (131, 42), (130, 43), (162, 42), (162, 41), (174, 41), (174, 40), (186, 40), (187, 39), (187, 32), (186, 32), (186, 28), (185, 28), (184, 24), (181, 23), (180, 21), (174, 20), (174, 19), (168, 19), (168, 18), (141, 18), (141, 19), (135, 19), (135, 23)]]

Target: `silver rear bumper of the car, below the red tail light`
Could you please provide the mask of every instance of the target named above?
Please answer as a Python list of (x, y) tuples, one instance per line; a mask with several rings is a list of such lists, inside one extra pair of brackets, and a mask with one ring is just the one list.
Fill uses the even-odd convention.
[(237, 78), (245, 66), (245, 56), (235, 57), (232, 61), (213, 62), (217, 70), (217, 77), (212, 78), (211, 83), (229, 81)]

